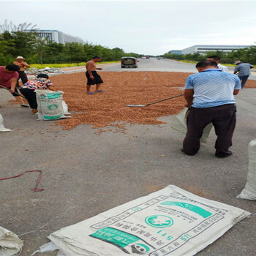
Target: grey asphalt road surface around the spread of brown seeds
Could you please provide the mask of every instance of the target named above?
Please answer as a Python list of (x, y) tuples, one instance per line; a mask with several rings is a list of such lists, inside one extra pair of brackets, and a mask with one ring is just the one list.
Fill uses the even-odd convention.
[[(192, 70), (190, 64), (157, 60), (145, 60), (145, 65), (141, 61), (140, 68), (159, 70), (161, 63), (176, 71)], [(1, 103), (7, 95), (0, 91)], [(0, 133), (0, 177), (42, 170), (40, 187), (45, 192), (29, 190), (35, 173), (0, 181), (0, 225), (19, 235), (36, 230), (20, 236), (25, 242), (21, 256), (29, 256), (61, 227), (174, 184), (253, 213), (199, 256), (255, 256), (256, 204), (236, 195), (244, 188), (247, 146), (255, 138), (256, 89), (244, 89), (236, 99), (238, 124), (233, 156), (227, 159), (214, 157), (214, 133), (197, 156), (182, 154), (184, 135), (170, 129), (173, 116), (163, 117), (166, 124), (161, 127), (133, 125), (125, 135), (105, 132), (99, 136), (90, 126), (64, 131), (53, 122), (35, 121), (30, 110), (4, 105), (0, 113), (13, 132)]]

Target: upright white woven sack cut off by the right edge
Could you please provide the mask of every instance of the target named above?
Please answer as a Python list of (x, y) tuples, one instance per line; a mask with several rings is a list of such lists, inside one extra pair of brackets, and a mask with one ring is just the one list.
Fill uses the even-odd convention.
[(256, 139), (252, 140), (248, 146), (249, 167), (245, 188), (238, 198), (256, 200)]

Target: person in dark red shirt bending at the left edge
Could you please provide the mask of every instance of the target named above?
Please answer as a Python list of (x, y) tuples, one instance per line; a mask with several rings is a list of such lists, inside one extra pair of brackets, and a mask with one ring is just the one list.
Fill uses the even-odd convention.
[(20, 103), (20, 106), (27, 108), (28, 106), (24, 104), (23, 99), (18, 95), (18, 90), (16, 88), (19, 70), (20, 67), (15, 64), (9, 64), (6, 67), (0, 66), (0, 85), (10, 89), (12, 96)]

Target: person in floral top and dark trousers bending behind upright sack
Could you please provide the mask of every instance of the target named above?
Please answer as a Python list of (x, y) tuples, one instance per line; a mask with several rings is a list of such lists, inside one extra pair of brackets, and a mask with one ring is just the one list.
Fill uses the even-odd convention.
[(39, 74), (36, 79), (28, 80), (20, 87), (20, 92), (26, 97), (29, 102), (29, 106), (32, 109), (32, 113), (37, 113), (37, 95), (34, 90), (51, 90), (56, 91), (53, 88), (53, 83), (49, 80), (48, 75)]

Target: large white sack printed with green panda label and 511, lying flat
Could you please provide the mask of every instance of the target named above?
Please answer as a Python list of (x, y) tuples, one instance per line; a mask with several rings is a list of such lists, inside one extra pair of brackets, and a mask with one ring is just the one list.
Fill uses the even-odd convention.
[(245, 217), (248, 211), (168, 186), (48, 238), (61, 256), (189, 256)]

